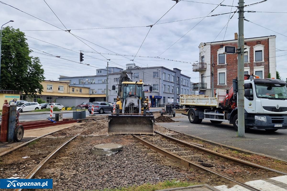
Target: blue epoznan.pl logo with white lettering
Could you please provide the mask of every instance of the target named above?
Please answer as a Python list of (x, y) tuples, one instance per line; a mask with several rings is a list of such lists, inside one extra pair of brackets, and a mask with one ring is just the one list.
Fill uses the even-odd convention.
[(53, 188), (53, 179), (0, 179), (0, 188)]

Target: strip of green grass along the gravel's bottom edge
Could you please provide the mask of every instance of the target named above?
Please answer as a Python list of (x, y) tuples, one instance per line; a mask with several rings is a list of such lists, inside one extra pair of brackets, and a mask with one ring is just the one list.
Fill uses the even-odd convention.
[[(129, 186), (129, 187), (122, 187), (122, 188), (115, 188), (115, 189), (104, 189), (104, 191), (153, 191), (153, 190), (161, 190), (166, 188), (176, 188), (176, 187), (187, 187), (192, 186), (194, 184), (188, 182), (180, 182), (180, 181), (164, 181), (159, 182), (158, 184), (143, 184), (140, 186)], [(94, 190), (99, 191), (99, 190)]]

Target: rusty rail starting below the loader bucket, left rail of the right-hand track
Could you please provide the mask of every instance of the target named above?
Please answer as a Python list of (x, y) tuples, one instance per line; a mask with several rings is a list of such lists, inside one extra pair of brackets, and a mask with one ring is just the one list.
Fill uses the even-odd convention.
[(251, 187), (251, 186), (249, 186), (249, 185), (247, 185), (247, 184), (245, 184), (245, 183), (243, 183), (243, 182), (237, 181), (237, 180), (235, 180), (235, 179), (233, 179), (233, 178), (230, 178), (230, 177), (228, 177), (228, 176), (226, 176), (226, 175), (224, 175), (224, 174), (221, 174), (221, 173), (219, 173), (219, 172), (216, 172), (216, 171), (214, 171), (214, 170), (211, 170), (211, 169), (209, 169), (209, 168), (206, 168), (206, 167), (204, 167), (204, 166), (201, 166), (201, 165), (199, 165), (199, 164), (197, 164), (197, 163), (195, 163), (195, 162), (192, 162), (192, 161), (190, 161), (190, 160), (187, 160), (187, 159), (185, 159), (185, 158), (183, 158), (183, 157), (181, 157), (181, 156), (179, 156), (179, 155), (176, 155), (176, 154), (174, 154), (174, 153), (172, 153), (172, 152), (169, 152), (169, 151), (167, 151), (167, 150), (165, 150), (165, 149), (162, 149), (162, 148), (160, 148), (160, 147), (158, 147), (158, 146), (156, 146), (156, 145), (154, 145), (154, 144), (152, 144), (152, 143), (150, 143), (150, 142), (148, 142), (148, 141), (146, 141), (146, 140), (144, 140), (144, 139), (141, 139), (141, 138), (140, 138), (139, 136), (137, 136), (137, 135), (133, 135), (133, 136), (134, 136), (140, 143), (142, 143), (143, 145), (146, 145), (146, 146), (148, 147), (148, 149), (152, 149), (153, 151), (156, 151), (156, 152), (158, 152), (158, 153), (164, 155), (165, 157), (168, 157), (169, 159), (171, 159), (171, 160), (173, 160), (173, 161), (179, 162), (179, 163), (181, 163), (181, 164), (183, 164), (183, 165), (185, 165), (185, 166), (187, 166), (187, 167), (193, 167), (193, 168), (197, 168), (197, 169), (200, 169), (200, 170), (205, 170), (205, 171), (207, 171), (207, 172), (216, 174), (216, 175), (218, 175), (218, 176), (221, 176), (221, 177), (223, 177), (223, 178), (226, 178), (227, 180), (230, 180), (230, 181), (232, 181), (232, 182), (235, 182), (236, 184), (239, 184), (239, 185), (241, 185), (241, 186), (243, 186), (243, 187), (245, 187), (245, 188), (247, 188), (247, 189), (249, 189), (249, 190), (259, 191), (258, 189), (253, 188), (253, 187)]

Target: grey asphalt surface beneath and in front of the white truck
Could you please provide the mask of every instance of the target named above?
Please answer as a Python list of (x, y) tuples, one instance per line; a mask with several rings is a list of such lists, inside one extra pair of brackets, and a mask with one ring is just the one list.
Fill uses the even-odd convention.
[(183, 118), (174, 119), (178, 121), (175, 123), (159, 123), (159, 125), (205, 140), (287, 161), (287, 129), (277, 130), (272, 133), (265, 130), (251, 129), (245, 133), (244, 138), (239, 138), (237, 137), (237, 132), (229, 123), (212, 124), (209, 120), (203, 120), (200, 124), (192, 124), (187, 116), (176, 115)]

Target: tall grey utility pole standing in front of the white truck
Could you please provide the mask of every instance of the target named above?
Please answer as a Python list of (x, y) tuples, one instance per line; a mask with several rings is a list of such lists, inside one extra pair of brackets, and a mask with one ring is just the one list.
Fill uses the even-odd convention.
[(245, 133), (245, 119), (244, 119), (244, 1), (239, 0), (238, 3), (239, 17), (238, 17), (238, 137), (244, 137)]

